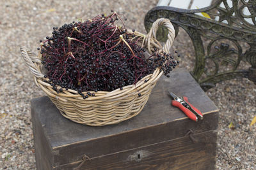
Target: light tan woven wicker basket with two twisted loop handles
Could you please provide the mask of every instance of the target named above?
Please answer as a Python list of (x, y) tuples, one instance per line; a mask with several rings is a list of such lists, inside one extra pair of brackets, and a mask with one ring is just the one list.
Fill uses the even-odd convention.
[[(159, 25), (164, 25), (169, 31), (168, 40), (163, 47), (156, 40), (156, 31)], [(170, 20), (164, 18), (154, 22), (147, 36), (140, 32), (135, 32), (135, 34), (143, 36), (141, 45), (147, 46), (149, 53), (154, 48), (159, 49), (160, 52), (168, 53), (175, 37), (173, 25)], [(147, 103), (150, 92), (156, 85), (157, 80), (163, 74), (163, 71), (157, 68), (154, 73), (145, 76), (136, 85), (125, 86), (123, 90), (100, 91), (95, 93), (95, 97), (88, 97), (84, 100), (80, 94), (77, 94), (77, 91), (71, 89), (63, 89), (63, 92), (57, 94), (48, 83), (48, 78), (44, 78), (44, 74), (42, 74), (42, 55), (39, 53), (37, 57), (34, 57), (35, 54), (24, 47), (20, 48), (20, 52), (34, 74), (36, 85), (44, 90), (60, 110), (61, 115), (79, 124), (92, 126), (117, 124), (138, 115)], [(146, 79), (147, 82), (144, 81)], [(58, 89), (60, 88), (58, 87)], [(139, 92), (141, 93), (140, 97), (138, 96)]]

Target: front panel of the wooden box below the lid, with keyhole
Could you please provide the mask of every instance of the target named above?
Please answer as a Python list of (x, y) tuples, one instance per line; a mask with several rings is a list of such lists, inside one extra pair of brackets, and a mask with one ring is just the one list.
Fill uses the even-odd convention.
[[(197, 143), (191, 142), (191, 139), (187, 136), (95, 157), (86, 160), (80, 169), (212, 170), (215, 169), (216, 136), (216, 131), (202, 132), (194, 136), (195, 139), (198, 139)], [(81, 164), (81, 161), (54, 167), (54, 169), (74, 169), (79, 164)]]

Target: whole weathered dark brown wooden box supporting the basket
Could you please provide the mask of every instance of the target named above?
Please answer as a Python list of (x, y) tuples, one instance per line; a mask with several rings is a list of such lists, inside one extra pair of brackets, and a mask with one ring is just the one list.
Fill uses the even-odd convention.
[[(187, 96), (204, 120), (171, 106), (168, 90)], [(218, 109), (184, 69), (162, 76), (143, 111), (120, 124), (76, 124), (48, 97), (33, 99), (31, 114), (37, 169), (215, 169)]]

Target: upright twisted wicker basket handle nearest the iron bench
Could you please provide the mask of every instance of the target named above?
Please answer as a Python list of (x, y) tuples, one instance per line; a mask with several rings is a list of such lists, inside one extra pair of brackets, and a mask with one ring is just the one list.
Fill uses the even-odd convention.
[[(157, 39), (156, 39), (157, 29), (161, 25), (164, 25), (164, 27), (166, 27), (168, 29), (168, 39), (167, 39), (164, 47), (161, 46), (159, 41), (157, 41)], [(155, 46), (158, 49), (160, 49), (159, 52), (163, 51), (163, 52), (169, 53), (170, 52), (170, 48), (172, 46), (172, 43), (174, 41), (174, 38), (175, 38), (175, 30), (174, 30), (174, 27), (173, 27), (172, 23), (170, 22), (170, 20), (168, 20), (166, 18), (159, 18), (159, 19), (157, 19), (153, 23), (150, 31), (148, 32), (148, 34), (146, 36), (146, 43), (147, 43), (148, 52), (152, 53), (152, 51), (154, 51), (153, 46)], [(153, 42), (155, 42), (153, 45), (151, 44), (152, 40), (153, 40)]]

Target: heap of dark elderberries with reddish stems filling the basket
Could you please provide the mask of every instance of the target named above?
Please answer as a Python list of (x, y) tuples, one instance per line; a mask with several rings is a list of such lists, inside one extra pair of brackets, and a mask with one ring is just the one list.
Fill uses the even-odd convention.
[(60, 86), (77, 90), (86, 99), (94, 96), (89, 91), (122, 90), (157, 67), (169, 76), (179, 61), (170, 53), (158, 53), (157, 49), (146, 59), (145, 49), (138, 43), (141, 37), (134, 30), (128, 32), (125, 27), (117, 27), (118, 19), (122, 20), (113, 12), (107, 17), (64, 24), (53, 27), (52, 36), (40, 40), (38, 50), (41, 49), (42, 64), (47, 69), (45, 78), (49, 78), (52, 89), (61, 92), (56, 88)]

